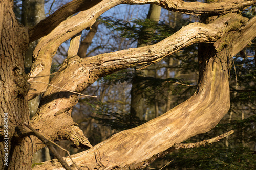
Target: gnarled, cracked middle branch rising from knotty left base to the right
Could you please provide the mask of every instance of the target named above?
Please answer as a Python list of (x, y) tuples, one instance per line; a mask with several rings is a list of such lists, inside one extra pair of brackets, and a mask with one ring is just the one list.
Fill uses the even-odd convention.
[[(158, 62), (162, 58), (193, 43), (214, 42), (216, 38), (225, 33), (224, 30), (232, 29), (232, 24), (226, 25), (226, 23), (229, 19), (233, 20), (234, 18), (237, 18), (239, 23), (241, 19), (243, 20), (243, 17), (240, 15), (227, 14), (210, 25), (193, 23), (183, 27), (177, 33), (155, 45), (134, 49), (130, 48), (84, 59), (73, 56), (70, 59), (66, 59), (65, 64), (62, 66), (65, 69), (60, 68), (62, 71), (59, 71), (52, 78), (50, 84), (81, 92), (99, 77), (108, 75), (114, 71)], [(71, 108), (73, 108), (77, 101), (77, 94), (66, 92), (52, 86), (48, 87), (42, 96), (36, 116), (32, 118), (33, 126), (42, 131), (44, 129), (52, 129), (54, 133), (40, 133), (55, 141), (55, 134), (59, 133), (59, 130), (67, 129), (67, 126), (73, 125), (70, 113)], [(57, 122), (60, 118), (62, 122), (67, 123), (58, 124)], [(55, 125), (54, 128), (52, 124)], [(40, 148), (40, 146), (36, 148)]]

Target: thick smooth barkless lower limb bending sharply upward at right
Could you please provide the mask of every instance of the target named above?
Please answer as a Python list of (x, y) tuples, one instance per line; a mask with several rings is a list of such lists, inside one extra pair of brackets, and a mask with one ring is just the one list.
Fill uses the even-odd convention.
[[(146, 165), (141, 162), (174, 143), (214, 128), (230, 107), (228, 64), (223, 68), (218, 54), (206, 56), (202, 58), (199, 87), (191, 98), (150, 122), (122, 131), (87, 151), (75, 154), (73, 160), (88, 169), (102, 166), (108, 169), (141, 168)], [(71, 163), (69, 158), (66, 161)], [(40, 167), (55, 168), (51, 162), (35, 169)]]

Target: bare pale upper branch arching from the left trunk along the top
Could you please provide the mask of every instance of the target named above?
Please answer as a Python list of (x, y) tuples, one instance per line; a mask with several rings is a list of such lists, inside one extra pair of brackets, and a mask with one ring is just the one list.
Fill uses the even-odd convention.
[[(238, 1), (229, 0), (229, 1), (214, 3), (214, 4), (207, 4), (207, 3), (200, 3), (200, 2), (186, 3), (181, 0), (175, 0), (175, 1), (102, 0), (102, 1), (95, 1), (93, 4), (89, 0), (88, 1), (82, 1), (82, 0), (72, 1), (70, 2), (70, 4), (67, 4), (67, 6), (63, 6), (63, 9), (70, 7), (70, 10), (68, 11), (71, 11), (71, 12), (69, 14), (73, 12), (77, 12), (77, 10), (78, 11), (85, 10), (85, 11), (81, 11), (79, 14), (67, 20), (65, 20), (67, 18), (67, 15), (61, 15), (63, 12), (62, 10), (60, 10), (59, 12), (56, 11), (56, 13), (53, 14), (54, 16), (50, 16), (49, 18), (46, 18), (45, 20), (41, 21), (38, 24), (39, 26), (41, 26), (42, 23), (45, 23), (46, 21), (50, 22), (52, 18), (56, 18), (56, 20), (53, 20), (54, 24), (50, 25), (51, 27), (48, 28), (49, 31), (46, 32), (47, 36), (41, 39), (41, 41), (38, 43), (38, 45), (34, 50), (33, 57), (35, 58), (35, 62), (32, 64), (32, 67), (31, 67), (31, 71), (29, 74), (29, 77), (31, 78), (29, 79), (29, 81), (41, 81), (41, 82), (48, 83), (49, 76), (46, 76), (46, 75), (50, 74), (52, 58), (55, 55), (57, 48), (63, 42), (75, 36), (77, 33), (81, 32), (83, 29), (86, 29), (92, 26), (93, 23), (96, 21), (96, 19), (102, 13), (104, 13), (105, 11), (109, 10), (112, 7), (115, 7), (118, 4), (154, 3), (168, 10), (178, 11), (183, 13), (184, 11), (187, 11), (187, 13), (191, 13), (191, 14), (192, 14), (192, 11), (195, 11), (196, 13), (193, 13), (193, 14), (200, 15), (205, 13), (221, 14), (221, 13), (227, 13), (227, 12), (234, 12), (234, 11), (238, 11), (238, 9), (240, 8), (245, 8), (256, 2), (256, 0), (251, 0), (251, 1), (240, 0), (240, 1), (239, 1), (240, 3), (238, 3)], [(85, 5), (87, 7), (81, 8), (80, 5)], [(47, 25), (49, 25), (49, 23), (47, 23)], [(35, 27), (38, 30), (36, 28), (33, 28), (32, 30), (34, 30), (34, 33), (40, 34), (45, 32), (45, 30), (44, 31), (40, 30), (42, 27), (37, 27), (37, 26)], [(46, 35), (46, 34), (42, 34), (41, 36), (43, 35)], [(31, 38), (32, 37), (33, 36), (31, 35)], [(36, 77), (36, 78), (32, 78), (32, 77)], [(35, 90), (29, 91), (28, 100), (35, 98), (37, 95), (41, 94), (42, 92), (45, 92), (47, 85), (34, 83), (32, 84), (31, 88), (36, 89), (36, 91)]]

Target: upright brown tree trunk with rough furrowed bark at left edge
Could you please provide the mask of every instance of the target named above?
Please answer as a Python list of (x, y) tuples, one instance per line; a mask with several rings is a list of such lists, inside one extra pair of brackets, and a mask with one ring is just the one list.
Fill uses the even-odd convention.
[[(32, 143), (23, 122), (29, 123), (28, 104), (25, 96), (28, 83), (24, 74), (24, 57), (28, 47), (28, 32), (14, 16), (13, 1), (0, 3), (0, 168), (30, 169)], [(7, 158), (8, 156), (8, 158)]]

